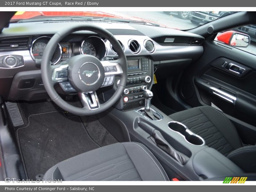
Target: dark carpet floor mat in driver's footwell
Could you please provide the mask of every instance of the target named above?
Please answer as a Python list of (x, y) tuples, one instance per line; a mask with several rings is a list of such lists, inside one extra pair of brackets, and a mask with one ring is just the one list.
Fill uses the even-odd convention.
[(99, 147), (81, 119), (67, 117), (63, 111), (29, 116), (28, 125), (17, 130), (17, 138), (29, 179), (36, 179), (60, 161)]

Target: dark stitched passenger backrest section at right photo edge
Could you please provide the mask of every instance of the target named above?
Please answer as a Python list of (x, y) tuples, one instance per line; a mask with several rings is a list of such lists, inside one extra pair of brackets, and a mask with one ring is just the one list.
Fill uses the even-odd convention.
[(246, 146), (232, 151), (227, 156), (237, 164), (244, 172), (256, 172), (256, 146)]

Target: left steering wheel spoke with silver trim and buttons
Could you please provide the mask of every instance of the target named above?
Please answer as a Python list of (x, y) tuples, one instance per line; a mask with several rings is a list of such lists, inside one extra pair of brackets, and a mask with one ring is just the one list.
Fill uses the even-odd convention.
[(66, 82), (68, 81), (68, 63), (61, 62), (57, 66), (52, 67), (52, 81), (53, 82)]

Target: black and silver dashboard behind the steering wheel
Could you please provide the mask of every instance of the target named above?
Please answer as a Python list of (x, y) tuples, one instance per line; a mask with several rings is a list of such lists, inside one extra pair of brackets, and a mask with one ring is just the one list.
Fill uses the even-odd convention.
[[(4, 100), (42, 100), (49, 96), (41, 78), (40, 63), (51, 37), (66, 27), (86, 23), (105, 28), (122, 45), (127, 58), (127, 84), (119, 109), (134, 108), (143, 99), (141, 92), (152, 87), (154, 70), (173, 62), (191, 62), (203, 53), (204, 37), (188, 32), (120, 22), (38, 21), (11, 23), (0, 35), (0, 95)], [(92, 31), (77, 31), (64, 37), (56, 47), (51, 65), (75, 55), (89, 54), (102, 60), (117, 57), (110, 42)], [(112, 77), (111, 77), (112, 78)], [(118, 77), (113, 77), (102, 92), (116, 89)], [(145, 87), (146, 86), (146, 87)], [(64, 95), (65, 90), (56, 86)], [(76, 94), (70, 92), (70, 94)], [(107, 95), (107, 94), (106, 94)], [(106, 100), (106, 96), (103, 96)]]

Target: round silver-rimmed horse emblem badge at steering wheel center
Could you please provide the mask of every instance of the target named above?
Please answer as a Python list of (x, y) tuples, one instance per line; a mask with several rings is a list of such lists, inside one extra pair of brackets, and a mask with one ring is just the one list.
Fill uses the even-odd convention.
[(100, 69), (92, 62), (84, 63), (79, 70), (79, 77), (86, 85), (93, 85), (100, 79)]

